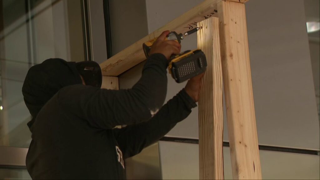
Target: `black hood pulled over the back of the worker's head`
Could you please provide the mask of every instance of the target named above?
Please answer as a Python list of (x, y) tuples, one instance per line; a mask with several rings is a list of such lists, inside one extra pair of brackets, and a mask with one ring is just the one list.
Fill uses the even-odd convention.
[(65, 86), (75, 84), (81, 84), (76, 62), (54, 58), (32, 66), (22, 86), (24, 102), (32, 115), (28, 126), (31, 127), (38, 112), (54, 94)]

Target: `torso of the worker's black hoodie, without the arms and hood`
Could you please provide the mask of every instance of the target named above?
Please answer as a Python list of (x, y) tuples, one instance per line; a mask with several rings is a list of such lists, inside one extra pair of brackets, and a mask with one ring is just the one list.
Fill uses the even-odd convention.
[[(67, 86), (76, 90), (77, 86)], [(33, 179), (125, 179), (112, 129), (92, 127), (60, 108), (59, 92), (32, 128), (27, 168)], [(120, 153), (119, 153), (120, 154)], [(122, 157), (119, 157), (122, 159)]]

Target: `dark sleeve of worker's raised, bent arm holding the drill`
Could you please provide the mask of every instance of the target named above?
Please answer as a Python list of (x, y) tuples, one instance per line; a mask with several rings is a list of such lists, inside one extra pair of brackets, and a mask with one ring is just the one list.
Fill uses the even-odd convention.
[(86, 119), (92, 126), (110, 129), (148, 121), (165, 100), (168, 61), (163, 54), (147, 59), (140, 80), (126, 90), (73, 85), (58, 92), (60, 110)]

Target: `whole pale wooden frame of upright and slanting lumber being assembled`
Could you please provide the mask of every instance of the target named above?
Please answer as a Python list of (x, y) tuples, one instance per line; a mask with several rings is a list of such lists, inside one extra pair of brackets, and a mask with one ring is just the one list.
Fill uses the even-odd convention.
[[(100, 64), (105, 88), (116, 89), (111, 82), (117, 76), (145, 60), (142, 44), (160, 35), (164, 30), (184, 32), (185, 27), (195, 28), (200, 22), (210, 29), (202, 29), (199, 36), (212, 41), (198, 40), (208, 57), (209, 66), (202, 82), (202, 95), (199, 100), (199, 164), (201, 179), (223, 179), (222, 161), (222, 96), (220, 95), (221, 64), (226, 96), (228, 133), (232, 174), (234, 179), (261, 179), (258, 137), (255, 122), (252, 81), (249, 60), (249, 47), (246, 29), (244, 2), (248, 0), (206, 0), (160, 29), (140, 39), (108, 61)], [(220, 47), (219, 37), (220, 36)], [(212, 53), (214, 52), (215, 57)], [(210, 54), (210, 55), (209, 55)], [(206, 99), (209, 97), (209, 100)], [(208, 112), (209, 111), (209, 112)], [(210, 116), (208, 114), (212, 113)], [(204, 148), (205, 147), (205, 148)], [(206, 157), (205, 157), (206, 156)], [(204, 158), (205, 157), (205, 158)]]

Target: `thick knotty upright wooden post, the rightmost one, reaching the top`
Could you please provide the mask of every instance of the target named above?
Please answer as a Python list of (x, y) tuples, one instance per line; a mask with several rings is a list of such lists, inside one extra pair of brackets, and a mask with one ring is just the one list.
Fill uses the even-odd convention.
[(245, 7), (218, 3), (223, 82), (234, 179), (261, 179)]

